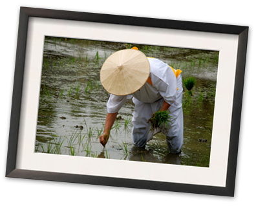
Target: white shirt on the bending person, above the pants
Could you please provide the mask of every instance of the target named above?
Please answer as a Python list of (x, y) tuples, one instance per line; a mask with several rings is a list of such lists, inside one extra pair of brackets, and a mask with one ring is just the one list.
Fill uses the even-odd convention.
[[(173, 70), (168, 64), (159, 59), (148, 58), (150, 64), (149, 77), (152, 81), (152, 86), (145, 82), (144, 86), (132, 95), (109, 97), (107, 102), (107, 113), (116, 113), (125, 104), (127, 98), (135, 97), (140, 102), (153, 103), (160, 98), (164, 98), (168, 104), (173, 104), (176, 100), (177, 82)], [(178, 105), (179, 102), (176, 102)]]

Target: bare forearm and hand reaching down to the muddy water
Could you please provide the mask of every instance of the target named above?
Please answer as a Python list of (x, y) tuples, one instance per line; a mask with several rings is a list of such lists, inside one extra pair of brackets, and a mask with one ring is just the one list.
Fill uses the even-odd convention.
[(114, 121), (116, 120), (117, 115), (118, 113), (107, 113), (105, 128), (103, 134), (100, 135), (100, 144), (102, 144), (103, 146), (105, 146), (107, 144), (107, 140), (109, 140), (110, 131), (114, 124)]

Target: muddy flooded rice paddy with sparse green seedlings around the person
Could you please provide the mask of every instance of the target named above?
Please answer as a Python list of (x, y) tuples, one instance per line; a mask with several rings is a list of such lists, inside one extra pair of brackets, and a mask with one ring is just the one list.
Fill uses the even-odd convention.
[[(184, 145), (179, 155), (169, 154), (162, 133), (144, 149), (133, 146), (131, 100), (120, 109), (122, 118), (114, 123), (106, 147), (99, 142), (109, 98), (100, 83), (100, 68), (111, 53), (131, 46), (182, 70), (183, 79), (197, 80), (193, 96), (185, 93), (183, 98)], [(218, 59), (219, 52), (213, 51), (46, 37), (35, 152), (209, 167)]]

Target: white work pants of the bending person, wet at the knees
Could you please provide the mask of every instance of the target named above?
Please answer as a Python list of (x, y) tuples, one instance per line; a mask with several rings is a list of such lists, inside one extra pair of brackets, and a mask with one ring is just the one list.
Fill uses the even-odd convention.
[[(160, 129), (151, 132), (151, 124), (148, 122), (151, 115), (155, 113), (158, 109), (162, 108), (164, 103), (164, 98), (154, 102), (154, 103), (143, 103), (138, 99), (133, 97), (133, 102), (135, 104), (133, 112), (133, 129), (132, 129), (132, 140), (136, 147), (144, 147), (149, 140), (153, 138), (153, 135), (162, 131), (166, 136), (166, 142), (170, 153), (180, 153), (181, 147), (183, 145), (183, 112), (182, 112), (182, 78), (178, 81), (178, 91), (176, 94), (176, 103), (173, 103), (168, 111), (171, 118), (169, 123), (169, 128), (161, 126)], [(180, 104), (181, 103), (181, 104)], [(181, 105), (181, 106), (180, 106)]]

